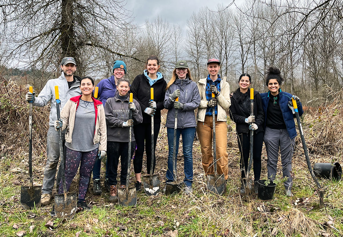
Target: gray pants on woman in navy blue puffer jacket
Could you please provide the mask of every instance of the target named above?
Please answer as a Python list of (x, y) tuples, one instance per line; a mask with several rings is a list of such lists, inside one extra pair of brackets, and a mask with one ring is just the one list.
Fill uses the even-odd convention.
[(264, 132), (264, 144), (268, 156), (268, 178), (271, 180), (275, 179), (280, 147), (282, 176), (288, 177), (288, 179), (284, 182), (285, 189), (291, 190), (293, 185), (291, 171), (295, 138), (289, 138), (287, 129), (272, 129), (266, 127)]

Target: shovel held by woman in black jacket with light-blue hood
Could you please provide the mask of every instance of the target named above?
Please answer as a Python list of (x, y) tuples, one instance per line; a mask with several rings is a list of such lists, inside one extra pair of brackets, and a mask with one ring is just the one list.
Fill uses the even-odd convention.
[[(154, 100), (154, 88), (151, 88), (151, 101)], [(150, 175), (142, 176), (144, 185), (144, 192), (148, 196), (157, 195), (160, 189), (161, 181), (159, 181), (158, 175), (153, 175), (154, 170), (154, 116), (151, 117), (151, 162), (150, 162)]]

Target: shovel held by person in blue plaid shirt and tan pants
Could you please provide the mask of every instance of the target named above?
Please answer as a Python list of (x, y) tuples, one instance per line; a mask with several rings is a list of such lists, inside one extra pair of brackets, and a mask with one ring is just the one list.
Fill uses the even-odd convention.
[[(214, 98), (214, 93), (212, 93)], [(218, 195), (222, 195), (225, 191), (225, 176), (224, 174), (217, 175), (217, 155), (216, 155), (216, 144), (215, 144), (215, 111), (212, 107), (212, 127), (213, 127), (213, 165), (214, 175), (207, 175), (207, 190), (214, 192)]]

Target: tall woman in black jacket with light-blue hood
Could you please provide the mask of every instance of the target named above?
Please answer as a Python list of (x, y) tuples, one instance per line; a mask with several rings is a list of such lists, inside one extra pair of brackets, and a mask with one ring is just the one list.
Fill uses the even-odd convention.
[[(141, 106), (143, 122), (134, 125), (134, 138), (137, 144), (135, 158), (133, 160), (133, 168), (136, 176), (136, 190), (140, 191), (142, 187), (141, 173), (143, 164), (143, 153), (145, 143), (146, 154), (146, 169), (150, 174), (151, 164), (151, 116), (154, 116), (154, 150), (156, 149), (157, 136), (161, 127), (161, 110), (164, 109), (163, 100), (166, 94), (167, 83), (161, 72), (158, 72), (159, 61), (156, 57), (150, 57), (146, 61), (146, 69), (142, 74), (136, 76), (130, 87), (130, 92), (133, 93), (133, 98), (136, 99)], [(154, 88), (154, 100), (150, 101), (150, 91)], [(155, 152), (153, 152), (155, 154)], [(153, 157), (154, 173), (156, 157)]]

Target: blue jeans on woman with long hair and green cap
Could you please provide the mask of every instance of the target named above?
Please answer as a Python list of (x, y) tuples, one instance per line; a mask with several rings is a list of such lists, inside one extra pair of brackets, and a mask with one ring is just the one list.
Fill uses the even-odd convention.
[[(194, 141), (195, 127), (190, 128), (178, 128), (176, 129), (176, 157), (179, 151), (179, 139), (180, 134), (182, 135), (182, 149), (184, 151), (184, 172), (185, 179), (184, 183), (187, 187), (192, 186), (193, 182), (193, 141)], [(167, 182), (174, 181), (173, 175), (173, 150), (174, 150), (174, 128), (167, 128), (167, 137), (168, 137), (168, 169), (167, 169)], [(175, 165), (177, 159), (175, 159)]]

